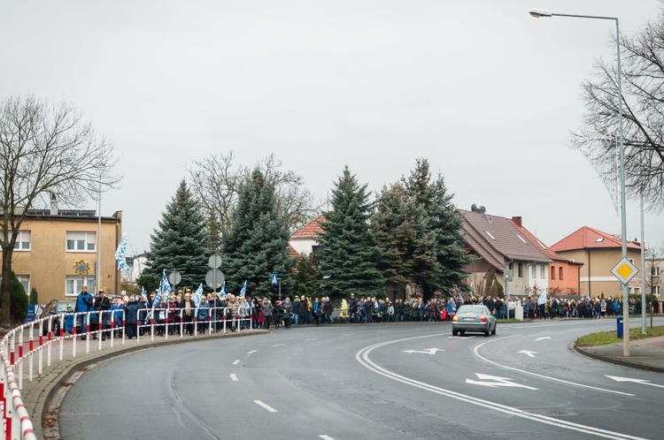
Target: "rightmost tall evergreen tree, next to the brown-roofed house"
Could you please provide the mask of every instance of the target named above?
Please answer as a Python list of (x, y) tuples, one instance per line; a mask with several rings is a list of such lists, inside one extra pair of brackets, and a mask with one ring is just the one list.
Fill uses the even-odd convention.
[[(467, 289), (463, 267), (473, 257), (463, 248), (459, 233), (462, 219), (452, 204), (453, 194), (447, 193), (444, 178), (431, 180), (429, 161), (418, 159), (409, 178), (402, 178), (405, 191), (415, 201), (426, 233), (418, 249), (420, 265), (415, 267), (413, 281), (422, 288), (425, 300), (436, 291), (452, 292), (454, 285)], [(434, 256), (435, 262), (430, 258)]]

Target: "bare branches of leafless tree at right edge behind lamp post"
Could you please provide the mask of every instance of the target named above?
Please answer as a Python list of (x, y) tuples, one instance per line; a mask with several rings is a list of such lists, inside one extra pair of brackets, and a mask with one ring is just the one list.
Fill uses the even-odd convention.
[[(664, 13), (634, 38), (620, 36), (626, 189), (644, 195), (648, 209), (664, 208)], [(615, 38), (614, 38), (615, 44)], [(614, 60), (599, 60), (594, 80), (583, 83), (586, 113), (572, 143), (588, 157), (605, 184), (615, 186), (619, 96)], [(607, 180), (608, 179), (608, 180)], [(613, 179), (613, 181), (611, 181)]]

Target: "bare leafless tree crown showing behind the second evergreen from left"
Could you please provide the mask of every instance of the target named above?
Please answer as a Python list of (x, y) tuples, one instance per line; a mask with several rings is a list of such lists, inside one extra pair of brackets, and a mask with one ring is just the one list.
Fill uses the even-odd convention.
[[(295, 231), (313, 220), (323, 206), (315, 202), (305, 188), (305, 181), (295, 171), (282, 171), (283, 164), (274, 154), (256, 163), (266, 180), (274, 185), (277, 206)], [(237, 202), (239, 184), (249, 178), (251, 169), (234, 163), (233, 152), (208, 156), (189, 168), (192, 192), (203, 204), (210, 233), (210, 247), (220, 248), (221, 237), (228, 231), (231, 212)]]

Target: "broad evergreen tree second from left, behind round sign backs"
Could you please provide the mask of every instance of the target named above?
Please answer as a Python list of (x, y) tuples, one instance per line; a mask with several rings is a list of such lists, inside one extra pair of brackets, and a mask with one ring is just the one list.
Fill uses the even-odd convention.
[(227, 292), (239, 292), (246, 280), (248, 294), (276, 295), (273, 273), (281, 278), (282, 294), (291, 292), (295, 259), (287, 249), (289, 224), (277, 209), (274, 185), (258, 168), (241, 184), (231, 220), (222, 240)]

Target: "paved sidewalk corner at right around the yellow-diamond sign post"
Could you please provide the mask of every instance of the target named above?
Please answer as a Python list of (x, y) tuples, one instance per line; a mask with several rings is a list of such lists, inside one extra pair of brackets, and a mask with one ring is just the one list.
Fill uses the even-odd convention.
[(576, 352), (593, 359), (664, 373), (664, 337), (630, 340), (629, 357), (622, 355), (622, 342), (590, 347), (574, 345), (574, 348)]

